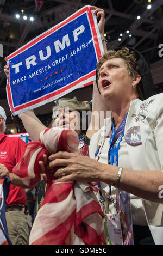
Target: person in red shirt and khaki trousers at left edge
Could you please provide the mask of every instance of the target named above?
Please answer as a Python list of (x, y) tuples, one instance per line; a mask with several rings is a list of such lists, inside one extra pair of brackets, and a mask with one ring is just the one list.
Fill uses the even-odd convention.
[(0, 106), (0, 179), (6, 175), (11, 180), (5, 217), (12, 245), (28, 245), (29, 228), (23, 212), (27, 201), (24, 190), (26, 187), (22, 185), (21, 179), (12, 173), (12, 169), (21, 159), (26, 143), (20, 138), (4, 134), (6, 118), (5, 111)]

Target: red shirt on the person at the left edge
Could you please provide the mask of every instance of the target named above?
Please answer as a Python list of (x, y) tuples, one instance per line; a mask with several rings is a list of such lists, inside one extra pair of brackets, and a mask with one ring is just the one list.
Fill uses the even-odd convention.
[[(0, 134), (0, 163), (4, 164), (12, 173), (12, 169), (21, 159), (24, 144), (22, 139), (17, 137), (8, 137), (4, 133)], [(7, 205), (25, 204), (27, 196), (24, 188), (10, 185), (10, 191), (7, 198)]]

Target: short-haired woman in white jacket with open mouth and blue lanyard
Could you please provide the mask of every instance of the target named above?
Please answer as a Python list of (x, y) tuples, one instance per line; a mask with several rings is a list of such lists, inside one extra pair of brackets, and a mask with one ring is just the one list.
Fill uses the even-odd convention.
[[(161, 245), (163, 94), (154, 95), (146, 60), (129, 48), (106, 52), (97, 65), (97, 77), (112, 117), (91, 138), (89, 152), (94, 159), (62, 152), (49, 156), (49, 168), (65, 166), (54, 174), (61, 176), (64, 171), (66, 175), (59, 181), (100, 181), (97, 196), (106, 214), (114, 213), (121, 190), (130, 193), (131, 215), (139, 236), (136, 241), (134, 234), (136, 244), (144, 244), (143, 239), (151, 235), (145, 234), (149, 226), (155, 244)], [(129, 229), (125, 243), (127, 237), (129, 241)]]

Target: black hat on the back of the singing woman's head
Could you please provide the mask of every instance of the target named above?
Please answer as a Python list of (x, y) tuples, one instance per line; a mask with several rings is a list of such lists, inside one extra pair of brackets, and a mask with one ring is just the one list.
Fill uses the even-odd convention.
[[(121, 50), (124, 47), (118, 47), (114, 51)], [(149, 65), (146, 62), (146, 59), (142, 56), (142, 54), (130, 47), (127, 47), (129, 51), (133, 51), (136, 56), (137, 60), (137, 66), (139, 66), (138, 74), (141, 76), (141, 83), (142, 83), (142, 88), (143, 88), (143, 98), (146, 100), (148, 97), (151, 97), (154, 95), (154, 84), (153, 84), (153, 78), (151, 75), (151, 71), (149, 69)], [(96, 70), (96, 84), (98, 82), (98, 75), (97, 75), (97, 70)], [(98, 87), (98, 84), (97, 84)], [(98, 88), (99, 91), (99, 88)], [(100, 93), (100, 92), (99, 92)]]

